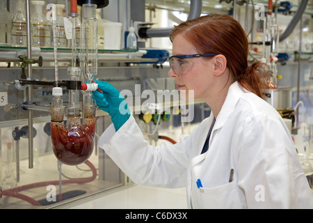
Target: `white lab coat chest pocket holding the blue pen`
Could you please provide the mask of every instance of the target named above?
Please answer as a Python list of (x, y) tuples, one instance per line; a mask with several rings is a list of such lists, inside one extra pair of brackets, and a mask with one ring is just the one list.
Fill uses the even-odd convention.
[(242, 208), (235, 182), (213, 188), (201, 187), (199, 196), (202, 208)]

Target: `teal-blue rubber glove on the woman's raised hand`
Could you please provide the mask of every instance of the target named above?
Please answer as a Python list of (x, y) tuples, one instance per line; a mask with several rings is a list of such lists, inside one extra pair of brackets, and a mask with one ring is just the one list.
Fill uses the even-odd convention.
[(102, 90), (102, 93), (100, 91), (93, 91), (93, 98), (99, 109), (109, 113), (115, 131), (118, 132), (131, 114), (125, 98), (118, 89), (115, 89), (108, 82), (95, 82), (98, 84), (98, 88)]

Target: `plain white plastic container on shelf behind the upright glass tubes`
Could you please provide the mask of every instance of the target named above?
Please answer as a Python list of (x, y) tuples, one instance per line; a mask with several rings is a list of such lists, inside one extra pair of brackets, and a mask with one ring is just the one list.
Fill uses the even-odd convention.
[(120, 49), (122, 23), (104, 22), (104, 49)]

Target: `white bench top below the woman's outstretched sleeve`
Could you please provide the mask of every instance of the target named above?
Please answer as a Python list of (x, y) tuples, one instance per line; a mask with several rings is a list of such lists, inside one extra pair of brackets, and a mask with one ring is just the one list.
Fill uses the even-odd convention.
[(186, 188), (145, 187), (131, 184), (57, 208), (67, 209), (186, 209)]

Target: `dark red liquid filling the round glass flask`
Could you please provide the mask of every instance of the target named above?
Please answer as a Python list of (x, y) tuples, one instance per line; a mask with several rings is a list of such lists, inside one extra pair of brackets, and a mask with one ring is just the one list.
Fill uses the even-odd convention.
[(54, 155), (63, 164), (78, 165), (93, 153), (95, 118), (88, 118), (86, 124), (65, 128), (63, 122), (51, 121), (51, 139)]

